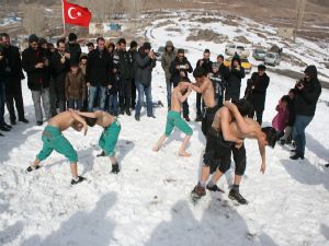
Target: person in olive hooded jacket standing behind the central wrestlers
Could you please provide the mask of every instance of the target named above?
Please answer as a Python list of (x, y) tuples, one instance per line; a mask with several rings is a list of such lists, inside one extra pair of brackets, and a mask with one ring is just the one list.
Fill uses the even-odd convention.
[(171, 89), (172, 89), (172, 81), (171, 81), (171, 73), (170, 73), (170, 65), (177, 57), (175, 49), (171, 40), (166, 43), (164, 52), (161, 57), (161, 67), (164, 71), (166, 77), (166, 85), (167, 85), (167, 103), (168, 103), (168, 110), (170, 110), (171, 106)]

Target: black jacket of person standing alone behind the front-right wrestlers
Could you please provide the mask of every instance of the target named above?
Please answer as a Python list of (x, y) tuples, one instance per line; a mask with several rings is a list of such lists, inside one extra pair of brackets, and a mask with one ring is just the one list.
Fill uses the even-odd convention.
[[(253, 110), (263, 112), (265, 107), (266, 90), (270, 84), (270, 78), (266, 73), (262, 77), (253, 72), (246, 89), (246, 98), (253, 106)], [(254, 86), (254, 89), (252, 89)], [(248, 92), (247, 92), (248, 91)]]

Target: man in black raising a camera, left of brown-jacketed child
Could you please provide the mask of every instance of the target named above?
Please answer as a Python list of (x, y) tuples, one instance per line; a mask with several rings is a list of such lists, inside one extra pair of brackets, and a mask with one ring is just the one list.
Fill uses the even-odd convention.
[(57, 51), (50, 60), (52, 77), (54, 79), (55, 92), (58, 101), (59, 112), (66, 110), (65, 78), (70, 70), (70, 55), (65, 51), (65, 40), (57, 42)]

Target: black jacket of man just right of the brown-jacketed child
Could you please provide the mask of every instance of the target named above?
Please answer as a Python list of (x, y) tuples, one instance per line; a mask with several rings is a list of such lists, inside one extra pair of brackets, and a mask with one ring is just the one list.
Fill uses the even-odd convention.
[(107, 86), (113, 82), (113, 60), (105, 49), (102, 52), (94, 49), (88, 55), (86, 82), (92, 86)]

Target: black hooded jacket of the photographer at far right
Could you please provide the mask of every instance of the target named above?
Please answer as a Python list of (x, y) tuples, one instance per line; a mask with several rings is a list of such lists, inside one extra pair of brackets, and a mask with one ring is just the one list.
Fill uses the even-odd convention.
[(306, 81), (299, 81), (304, 89), (299, 90), (296, 85), (295, 91), (295, 112), (296, 115), (309, 116), (315, 115), (316, 105), (321, 94), (321, 84), (317, 78)]

